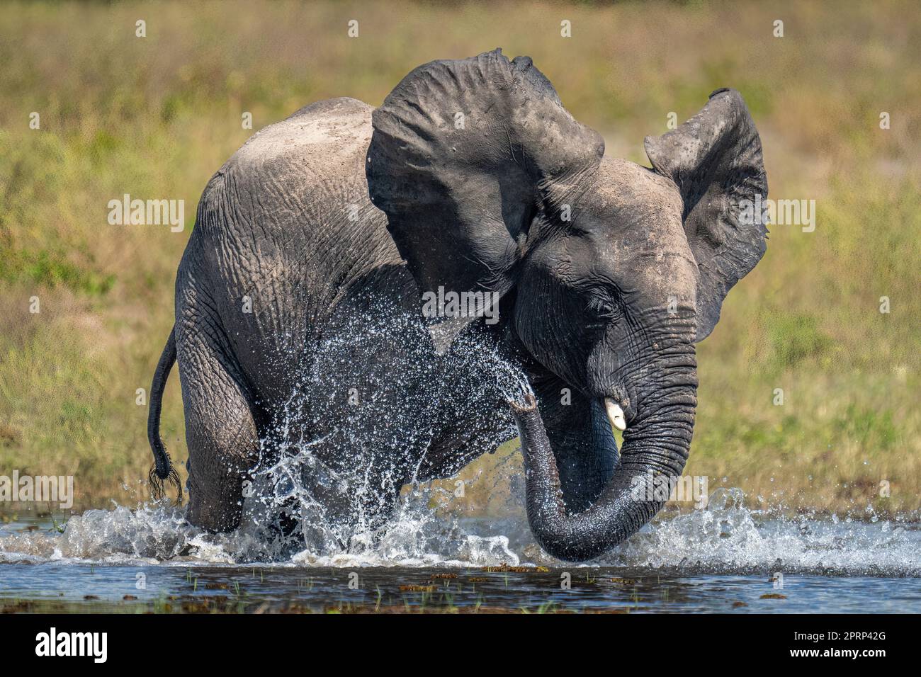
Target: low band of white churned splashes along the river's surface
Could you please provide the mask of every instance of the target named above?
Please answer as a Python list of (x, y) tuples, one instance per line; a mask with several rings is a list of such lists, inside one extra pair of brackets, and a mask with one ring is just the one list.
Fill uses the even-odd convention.
[[(165, 505), (87, 510), (64, 533), (0, 530), (0, 562), (221, 566), (271, 560), (274, 566), (565, 566), (533, 542), (523, 515), (458, 519), (433, 510), (420, 487), (377, 531), (356, 533), (347, 548), (305, 544), (278, 559), (259, 525), (227, 534), (197, 530)], [(669, 572), (812, 573), (921, 577), (921, 529), (911, 522), (766, 519), (745, 508), (738, 489), (717, 490), (708, 508), (664, 515), (620, 547), (581, 566)]]

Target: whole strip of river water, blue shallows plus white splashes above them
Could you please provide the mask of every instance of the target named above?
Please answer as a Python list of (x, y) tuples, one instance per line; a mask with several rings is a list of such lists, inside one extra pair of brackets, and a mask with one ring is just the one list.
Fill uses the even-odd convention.
[(346, 549), (284, 555), (181, 508), (87, 510), (0, 524), (0, 611), (916, 613), (921, 525), (771, 518), (721, 491), (572, 565), (520, 515), (458, 519), (426, 496)]

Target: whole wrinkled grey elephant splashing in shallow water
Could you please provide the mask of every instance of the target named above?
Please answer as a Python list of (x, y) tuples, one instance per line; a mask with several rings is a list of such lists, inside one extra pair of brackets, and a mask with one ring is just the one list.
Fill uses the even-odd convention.
[[(350, 431), (318, 453), (381, 480), (360, 502), (386, 519), (403, 482), (449, 476), (509, 437), (495, 375), (463, 373), (456, 355), (480, 333), (536, 394), (536, 406), (527, 396), (512, 415), (542, 547), (583, 560), (640, 529), (661, 501), (637, 497), (634, 478), (682, 473), (694, 343), (764, 254), (766, 229), (749, 225), (740, 204), (767, 197), (761, 143), (738, 92), (717, 90), (645, 145), (652, 169), (604, 157), (600, 135), (565, 111), (530, 59), (509, 62), (498, 50), (420, 66), (376, 111), (332, 99), (255, 134), (208, 183), (176, 285), (188, 518), (215, 530), (238, 523), (241, 477), (294, 397), (296, 437)], [(499, 322), (424, 321), (420, 295), (438, 286), (497, 292)], [(347, 338), (355, 329), (342, 318), (375, 312), (361, 300), (368, 289), (417, 321), (374, 356), (356, 353), (332, 379), (336, 393), (297, 392), (322, 337)], [(240, 312), (244, 295), (251, 314)], [(401, 341), (425, 345), (426, 358), (401, 359)], [(156, 414), (169, 351), (151, 408), (161, 478), (169, 461)], [(391, 438), (375, 437), (369, 412), (346, 405), (348, 385), (372, 371), (379, 383), (400, 372), (391, 380), (401, 391), (375, 404), (408, 414)], [(606, 398), (624, 412), (620, 453)], [(356, 449), (367, 435), (378, 446)], [(354, 501), (349, 509), (342, 514), (354, 517)]]

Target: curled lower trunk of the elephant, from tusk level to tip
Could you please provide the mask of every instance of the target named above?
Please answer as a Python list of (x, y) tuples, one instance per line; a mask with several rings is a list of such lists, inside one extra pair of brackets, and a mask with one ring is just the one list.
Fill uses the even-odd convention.
[[(566, 514), (550, 441), (534, 398), (511, 403), (519, 427), (527, 485), (528, 521), (537, 542), (560, 559), (603, 554), (639, 531), (665, 504), (668, 493), (647, 491), (653, 477), (673, 485), (687, 461), (694, 430), (696, 379), (673, 384), (647, 403), (624, 432), (621, 460), (611, 482), (588, 509)], [(664, 477), (663, 477), (664, 476)]]

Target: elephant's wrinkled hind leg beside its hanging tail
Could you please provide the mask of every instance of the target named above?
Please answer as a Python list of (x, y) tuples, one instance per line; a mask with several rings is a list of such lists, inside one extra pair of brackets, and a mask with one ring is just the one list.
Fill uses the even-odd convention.
[(189, 510), (192, 524), (211, 531), (239, 525), (243, 480), (259, 460), (259, 435), (233, 353), (216, 318), (183, 313), (177, 354), (189, 448)]

